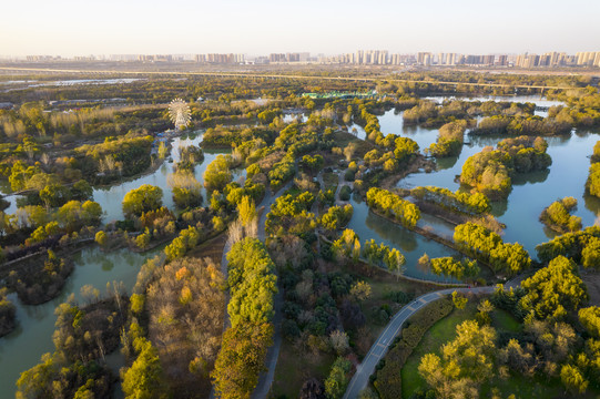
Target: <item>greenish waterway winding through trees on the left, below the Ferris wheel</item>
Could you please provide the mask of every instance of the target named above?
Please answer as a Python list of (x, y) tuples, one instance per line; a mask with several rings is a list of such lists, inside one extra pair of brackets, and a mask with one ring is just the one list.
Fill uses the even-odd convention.
[[(200, 132), (190, 136), (176, 137), (172, 141), (171, 162), (165, 162), (151, 174), (111, 187), (94, 188), (94, 201), (100, 203), (105, 212), (104, 222), (112, 222), (123, 217), (121, 203), (124, 195), (132, 188), (142, 184), (152, 184), (163, 190), (163, 204), (174, 209), (172, 192), (167, 184), (167, 176), (173, 172), (173, 165), (179, 161), (179, 147), (197, 145), (202, 141)], [(202, 183), (206, 165), (223, 151), (205, 151), (204, 161), (196, 165), (194, 174)], [(234, 171), (234, 178), (245, 176), (245, 170)], [(205, 191), (203, 196), (206, 201)], [(14, 209), (14, 196), (9, 196)], [(10, 208), (9, 208), (10, 209)], [(87, 247), (73, 255), (74, 270), (68, 278), (61, 295), (42, 305), (23, 305), (16, 294), (9, 298), (17, 307), (17, 328), (8, 336), (0, 338), (0, 399), (14, 398), (16, 382), (20, 374), (40, 361), (45, 352), (52, 352), (52, 332), (54, 331), (54, 308), (74, 294), (79, 298), (82, 286), (91, 284), (101, 293), (105, 293), (106, 283), (123, 282), (128, 291), (131, 291), (140, 267), (145, 259), (154, 257), (162, 250), (162, 246), (143, 254), (132, 253), (123, 248), (111, 253), (102, 252), (99, 247)], [(113, 359), (119, 362), (119, 359)]]

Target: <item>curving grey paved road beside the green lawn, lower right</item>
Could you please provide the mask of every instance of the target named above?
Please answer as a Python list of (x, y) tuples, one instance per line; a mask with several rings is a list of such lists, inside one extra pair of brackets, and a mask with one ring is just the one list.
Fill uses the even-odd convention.
[[(517, 279), (507, 283), (506, 287), (515, 287), (518, 285)], [(379, 335), (375, 344), (370, 347), (367, 356), (363, 359), (363, 362), (356, 368), (344, 399), (358, 398), (358, 395), (368, 383), (370, 375), (375, 371), (375, 367), (379, 360), (387, 354), (389, 345), (394, 341), (394, 338), (401, 331), (405, 321), (416, 314), (420, 308), (430, 304), (445, 295), (451, 294), (457, 290), (459, 293), (472, 293), (472, 294), (491, 294), (496, 287), (477, 287), (477, 288), (447, 288), (421, 295), (413, 300), (410, 304), (404, 306), (388, 323), (384, 331)]]

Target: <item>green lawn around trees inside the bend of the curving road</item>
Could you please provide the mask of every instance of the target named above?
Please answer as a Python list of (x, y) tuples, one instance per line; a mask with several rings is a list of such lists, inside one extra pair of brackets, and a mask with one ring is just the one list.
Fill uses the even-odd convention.
[[(470, 299), (462, 310), (454, 309), (452, 313), (439, 320), (423, 337), (401, 369), (403, 397), (410, 396), (418, 389), (426, 390), (427, 385), (419, 376), (418, 366), (424, 355), (434, 352), (440, 356), (441, 346), (456, 337), (456, 326), (465, 320), (475, 319), (478, 299)], [(498, 332), (520, 332), (522, 325), (510, 314), (501, 309), (495, 309), (491, 314), (491, 325)], [(441, 356), (440, 356), (441, 357)], [(481, 397), (491, 395), (491, 387), (500, 390), (500, 397), (507, 398), (513, 393), (516, 398), (556, 398), (563, 393), (560, 381), (547, 381), (541, 378), (527, 378), (520, 375), (511, 375), (509, 379), (494, 378), (490, 383), (481, 388)]]

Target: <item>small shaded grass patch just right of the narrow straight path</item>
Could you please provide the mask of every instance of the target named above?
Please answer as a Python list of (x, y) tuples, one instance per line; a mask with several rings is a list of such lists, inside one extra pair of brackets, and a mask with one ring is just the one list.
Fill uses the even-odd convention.
[(327, 378), (334, 360), (335, 356), (330, 354), (298, 354), (294, 346), (284, 339), (268, 397), (297, 398), (304, 381), (313, 377), (322, 381)]

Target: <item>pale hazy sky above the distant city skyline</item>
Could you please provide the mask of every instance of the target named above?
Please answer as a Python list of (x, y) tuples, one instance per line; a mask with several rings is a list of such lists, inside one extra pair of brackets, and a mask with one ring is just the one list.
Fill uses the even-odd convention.
[(9, 0), (0, 54), (600, 51), (600, 0)]

